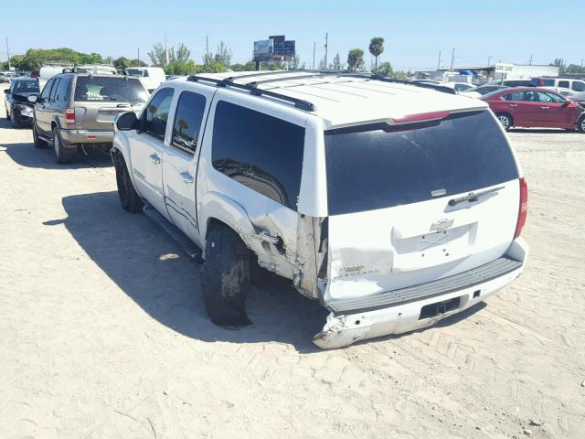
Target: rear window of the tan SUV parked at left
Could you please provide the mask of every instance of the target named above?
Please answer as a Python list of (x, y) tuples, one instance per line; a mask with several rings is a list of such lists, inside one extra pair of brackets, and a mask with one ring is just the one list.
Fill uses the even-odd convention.
[(75, 87), (77, 102), (140, 102), (148, 101), (148, 92), (140, 80), (80, 76)]

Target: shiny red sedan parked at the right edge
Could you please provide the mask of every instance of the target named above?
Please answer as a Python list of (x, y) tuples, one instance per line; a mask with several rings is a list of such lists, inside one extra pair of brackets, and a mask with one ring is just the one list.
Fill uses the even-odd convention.
[(585, 133), (585, 113), (580, 105), (555, 91), (517, 87), (494, 91), (480, 99), (489, 104), (505, 131), (523, 126), (567, 128)]

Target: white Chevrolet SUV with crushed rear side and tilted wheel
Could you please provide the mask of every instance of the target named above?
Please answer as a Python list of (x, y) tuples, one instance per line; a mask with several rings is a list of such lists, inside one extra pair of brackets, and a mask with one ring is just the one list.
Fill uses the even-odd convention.
[(122, 207), (205, 261), (219, 326), (250, 325), (258, 263), (329, 310), (320, 348), (427, 327), (512, 282), (528, 252), (515, 152), (484, 102), (450, 93), (339, 72), (167, 81), (117, 118)]

